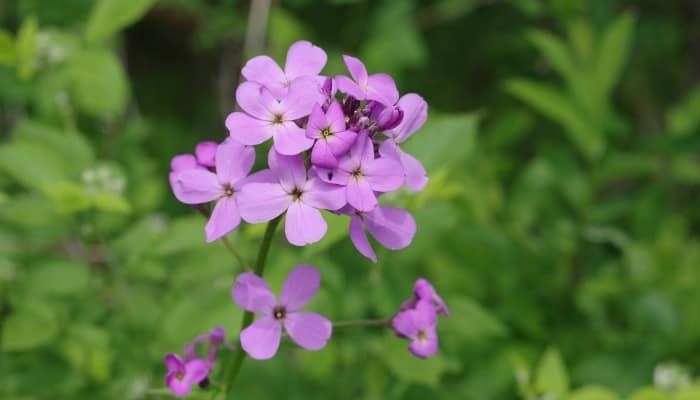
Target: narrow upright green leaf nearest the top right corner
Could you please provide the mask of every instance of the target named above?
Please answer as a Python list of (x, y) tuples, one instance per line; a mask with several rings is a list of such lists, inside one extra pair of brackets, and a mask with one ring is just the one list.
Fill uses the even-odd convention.
[(610, 93), (620, 79), (622, 69), (627, 62), (632, 47), (634, 23), (634, 15), (625, 13), (603, 33), (596, 63), (596, 82), (600, 93), (604, 96)]

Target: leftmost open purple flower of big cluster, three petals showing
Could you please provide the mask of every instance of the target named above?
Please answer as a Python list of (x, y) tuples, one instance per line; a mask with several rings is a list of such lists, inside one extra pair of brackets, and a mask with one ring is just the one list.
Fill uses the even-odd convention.
[(205, 227), (207, 242), (226, 235), (240, 223), (238, 192), (254, 161), (253, 148), (227, 140), (216, 150), (216, 173), (189, 169), (177, 174), (173, 190), (178, 200), (186, 204), (217, 201)]

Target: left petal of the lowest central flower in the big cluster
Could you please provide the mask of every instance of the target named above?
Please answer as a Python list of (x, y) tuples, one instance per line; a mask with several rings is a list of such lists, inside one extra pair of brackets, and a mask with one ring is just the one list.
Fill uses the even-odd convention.
[(251, 224), (267, 222), (278, 217), (290, 204), (292, 197), (279, 183), (248, 183), (238, 194), (241, 218)]

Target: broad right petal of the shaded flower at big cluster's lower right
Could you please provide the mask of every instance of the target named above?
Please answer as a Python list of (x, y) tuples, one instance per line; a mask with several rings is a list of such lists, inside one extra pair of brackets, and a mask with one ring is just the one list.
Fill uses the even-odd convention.
[(382, 246), (398, 250), (411, 244), (416, 234), (416, 221), (400, 208), (379, 206), (365, 214), (367, 230)]

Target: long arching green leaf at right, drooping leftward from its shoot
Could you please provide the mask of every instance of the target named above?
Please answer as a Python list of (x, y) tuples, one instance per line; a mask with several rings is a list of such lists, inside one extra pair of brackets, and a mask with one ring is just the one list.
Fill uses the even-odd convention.
[(583, 113), (560, 90), (527, 79), (510, 79), (505, 83), (505, 90), (562, 125), (569, 139), (587, 159), (597, 159), (603, 154), (605, 140), (602, 132), (589, 125)]

